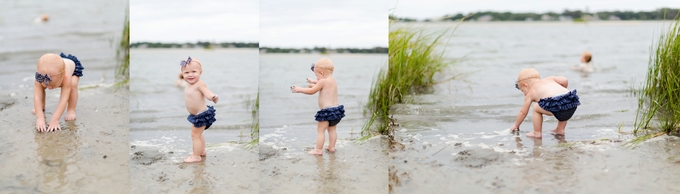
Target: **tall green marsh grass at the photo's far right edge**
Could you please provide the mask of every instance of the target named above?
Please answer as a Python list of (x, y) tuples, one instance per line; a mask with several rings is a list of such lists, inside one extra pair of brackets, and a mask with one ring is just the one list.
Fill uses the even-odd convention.
[[(652, 134), (642, 135), (633, 140), (634, 144), (659, 134), (677, 134), (680, 131), (680, 15), (675, 16), (666, 33), (658, 39), (656, 48), (652, 48), (649, 58), (647, 78), (638, 96), (638, 112), (635, 116), (636, 135), (658, 130)], [(652, 126), (653, 121), (658, 125)]]

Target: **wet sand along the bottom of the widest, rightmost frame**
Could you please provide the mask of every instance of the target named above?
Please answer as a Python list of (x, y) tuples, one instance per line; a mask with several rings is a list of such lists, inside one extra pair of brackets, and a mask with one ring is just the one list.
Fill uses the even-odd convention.
[(632, 150), (610, 141), (540, 142), (523, 142), (533, 147), (524, 153), (452, 146), (441, 156), (446, 160), (429, 157), (439, 149), (408, 146), (390, 153), (392, 193), (680, 192), (678, 137), (662, 136)]

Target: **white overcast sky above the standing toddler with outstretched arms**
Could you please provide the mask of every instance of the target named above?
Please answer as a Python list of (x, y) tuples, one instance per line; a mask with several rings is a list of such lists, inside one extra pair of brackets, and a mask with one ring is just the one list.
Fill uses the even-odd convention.
[(387, 0), (260, 0), (261, 47), (387, 47)]

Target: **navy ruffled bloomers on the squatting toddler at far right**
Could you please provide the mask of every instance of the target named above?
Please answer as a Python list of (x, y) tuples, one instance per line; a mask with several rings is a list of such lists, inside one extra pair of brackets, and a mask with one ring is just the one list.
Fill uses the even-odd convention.
[(541, 98), (538, 101), (538, 106), (553, 113), (559, 121), (571, 119), (571, 116), (576, 112), (576, 107), (579, 105), (581, 105), (581, 102), (578, 100), (576, 90), (559, 96)]

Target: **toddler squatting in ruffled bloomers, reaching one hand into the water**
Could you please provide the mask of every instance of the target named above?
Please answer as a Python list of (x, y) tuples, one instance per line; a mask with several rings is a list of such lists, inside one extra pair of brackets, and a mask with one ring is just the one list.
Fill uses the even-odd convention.
[(557, 128), (551, 132), (564, 135), (567, 121), (576, 112), (576, 107), (581, 104), (576, 90), (567, 90), (568, 85), (569, 81), (566, 77), (550, 76), (541, 79), (541, 75), (535, 69), (523, 69), (517, 77), (515, 88), (524, 93), (524, 104), (517, 114), (515, 125), (510, 130), (519, 130), (519, 125), (529, 113), (531, 103), (538, 102), (533, 107), (531, 118), (534, 131), (529, 132), (527, 137), (541, 138), (543, 115), (555, 116), (559, 122)]

